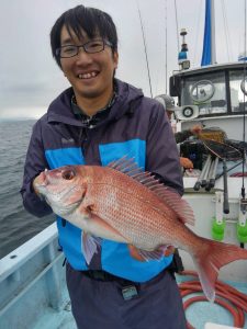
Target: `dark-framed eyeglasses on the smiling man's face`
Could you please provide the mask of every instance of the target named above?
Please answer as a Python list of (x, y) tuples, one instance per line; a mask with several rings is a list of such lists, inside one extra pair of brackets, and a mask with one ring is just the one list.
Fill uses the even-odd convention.
[(60, 58), (69, 58), (77, 56), (79, 54), (79, 49), (83, 48), (83, 50), (88, 54), (96, 54), (104, 50), (104, 47), (112, 47), (112, 44), (105, 39), (93, 39), (83, 45), (66, 45), (56, 49), (56, 56)]

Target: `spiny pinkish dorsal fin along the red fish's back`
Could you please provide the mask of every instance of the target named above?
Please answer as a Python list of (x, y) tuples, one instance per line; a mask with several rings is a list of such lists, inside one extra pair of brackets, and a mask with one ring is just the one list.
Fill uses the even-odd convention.
[(187, 201), (181, 198), (173, 190), (160, 183), (150, 172), (143, 171), (143, 168), (137, 166), (134, 158), (130, 159), (127, 156), (124, 156), (111, 162), (108, 167), (121, 171), (142, 183), (154, 192), (164, 204), (170, 206), (182, 223), (194, 225), (193, 211)]

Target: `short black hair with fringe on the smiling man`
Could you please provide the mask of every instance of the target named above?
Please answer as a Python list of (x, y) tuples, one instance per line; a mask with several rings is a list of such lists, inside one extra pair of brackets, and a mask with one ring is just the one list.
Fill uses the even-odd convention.
[(117, 52), (117, 34), (112, 18), (97, 8), (80, 4), (64, 12), (50, 31), (52, 54), (60, 68), (60, 58), (56, 56), (56, 49), (60, 47), (60, 33), (64, 25), (70, 35), (72, 31), (78, 38), (82, 37), (82, 30), (89, 38), (100, 34), (112, 44), (112, 52)]

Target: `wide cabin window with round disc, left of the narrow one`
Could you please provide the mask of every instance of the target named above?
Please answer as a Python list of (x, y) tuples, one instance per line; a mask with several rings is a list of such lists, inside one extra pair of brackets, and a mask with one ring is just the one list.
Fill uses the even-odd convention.
[(225, 73), (212, 72), (183, 80), (181, 105), (198, 105), (200, 115), (226, 113)]

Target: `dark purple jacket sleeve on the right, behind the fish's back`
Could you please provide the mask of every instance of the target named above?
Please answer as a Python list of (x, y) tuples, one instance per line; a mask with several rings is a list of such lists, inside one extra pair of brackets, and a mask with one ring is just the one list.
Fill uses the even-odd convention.
[(175, 136), (161, 105), (154, 105), (147, 136), (146, 169), (183, 194), (182, 171)]

